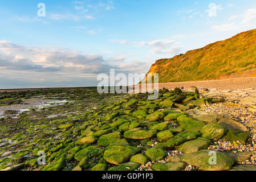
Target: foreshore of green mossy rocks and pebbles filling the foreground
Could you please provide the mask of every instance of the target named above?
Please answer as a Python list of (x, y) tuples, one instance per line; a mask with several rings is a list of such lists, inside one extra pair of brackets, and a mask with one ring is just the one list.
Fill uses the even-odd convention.
[[(162, 89), (152, 101), (148, 93), (68, 90), (74, 103), (3, 118), (0, 169), (255, 171), (254, 95), (182, 89)], [(38, 152), (46, 164), (38, 164)]]

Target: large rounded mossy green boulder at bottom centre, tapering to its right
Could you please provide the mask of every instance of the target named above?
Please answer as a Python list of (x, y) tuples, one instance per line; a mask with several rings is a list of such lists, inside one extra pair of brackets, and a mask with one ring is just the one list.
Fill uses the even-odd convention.
[(131, 156), (140, 152), (137, 147), (109, 146), (104, 152), (104, 159), (111, 164), (119, 165), (127, 162)]

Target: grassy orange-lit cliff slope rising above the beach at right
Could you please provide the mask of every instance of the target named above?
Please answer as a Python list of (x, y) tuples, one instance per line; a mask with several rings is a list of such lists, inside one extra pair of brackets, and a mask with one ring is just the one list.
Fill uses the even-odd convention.
[(157, 60), (148, 73), (159, 73), (159, 82), (256, 76), (256, 30)]

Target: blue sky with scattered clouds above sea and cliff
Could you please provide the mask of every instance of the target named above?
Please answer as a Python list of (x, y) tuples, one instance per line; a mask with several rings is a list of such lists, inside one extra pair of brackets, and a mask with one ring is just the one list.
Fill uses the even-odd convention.
[(96, 86), (254, 28), (255, 0), (2, 0), (0, 89)]

